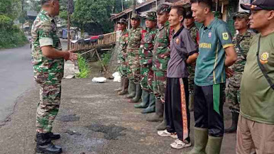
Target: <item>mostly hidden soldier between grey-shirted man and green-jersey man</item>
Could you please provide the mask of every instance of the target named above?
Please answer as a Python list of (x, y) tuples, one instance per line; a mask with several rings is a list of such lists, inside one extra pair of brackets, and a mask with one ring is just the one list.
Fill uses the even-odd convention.
[[(186, 29), (190, 31), (190, 36), (194, 42), (197, 43), (197, 37), (199, 35), (199, 29), (194, 23), (194, 18), (192, 17), (191, 8), (186, 8), (186, 19), (184, 20)], [(195, 76), (195, 63), (188, 64), (188, 89), (189, 89), (189, 110), (190, 112), (194, 110), (194, 76)]]

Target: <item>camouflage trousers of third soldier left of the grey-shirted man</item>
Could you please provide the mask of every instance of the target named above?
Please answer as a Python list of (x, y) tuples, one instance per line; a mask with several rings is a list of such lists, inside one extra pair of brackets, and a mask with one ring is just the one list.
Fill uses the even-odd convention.
[(128, 69), (127, 77), (134, 81), (134, 84), (140, 84), (140, 58), (138, 50), (129, 50), (127, 55)]

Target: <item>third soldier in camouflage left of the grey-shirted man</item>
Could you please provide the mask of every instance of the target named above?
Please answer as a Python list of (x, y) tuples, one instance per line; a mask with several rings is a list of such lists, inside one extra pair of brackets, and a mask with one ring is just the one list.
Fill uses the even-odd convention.
[(129, 29), (129, 38), (127, 43), (127, 77), (129, 78), (129, 103), (137, 103), (141, 99), (142, 88), (140, 86), (140, 42), (145, 35), (145, 29), (140, 27), (140, 17), (138, 14), (132, 14), (132, 28)]

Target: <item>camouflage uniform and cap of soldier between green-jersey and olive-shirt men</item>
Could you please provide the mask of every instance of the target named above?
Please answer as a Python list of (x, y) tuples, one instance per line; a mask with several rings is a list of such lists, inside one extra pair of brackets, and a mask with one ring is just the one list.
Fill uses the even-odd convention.
[[(239, 18), (248, 18), (248, 15), (245, 13), (238, 13), (236, 16)], [(235, 34), (232, 40), (238, 55), (237, 61), (232, 65), (234, 75), (229, 78), (226, 94), (227, 103), (229, 103), (229, 108), (232, 112), (240, 112), (240, 80), (242, 79), (242, 73), (247, 60), (247, 52), (249, 51), (249, 44), (253, 36), (253, 32), (247, 31), (243, 35)]]

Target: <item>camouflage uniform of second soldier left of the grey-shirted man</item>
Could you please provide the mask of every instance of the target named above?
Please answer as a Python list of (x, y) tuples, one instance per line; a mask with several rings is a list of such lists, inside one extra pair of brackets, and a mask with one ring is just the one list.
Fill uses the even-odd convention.
[(149, 74), (153, 74), (152, 70), (152, 57), (153, 57), (153, 47), (154, 47), (154, 38), (157, 33), (157, 29), (148, 29), (147, 34), (141, 40), (140, 45), (140, 65), (141, 65), (141, 81), (140, 84), (143, 90), (153, 92), (151, 90), (152, 81), (148, 81)]

